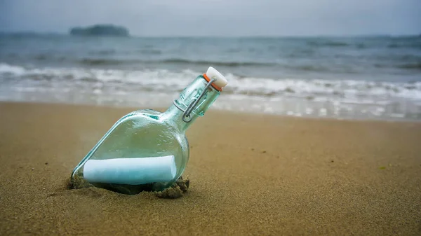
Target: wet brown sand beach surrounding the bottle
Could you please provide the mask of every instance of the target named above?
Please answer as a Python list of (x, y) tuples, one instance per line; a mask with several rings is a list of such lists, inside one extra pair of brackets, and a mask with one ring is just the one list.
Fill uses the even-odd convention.
[(0, 103), (0, 235), (421, 235), (421, 123), (208, 111), (183, 197), (67, 189), (132, 110)]

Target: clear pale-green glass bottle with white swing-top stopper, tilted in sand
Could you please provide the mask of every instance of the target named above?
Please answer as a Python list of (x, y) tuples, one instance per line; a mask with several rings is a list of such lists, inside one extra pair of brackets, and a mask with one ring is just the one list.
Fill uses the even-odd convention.
[(96, 186), (137, 194), (171, 186), (189, 160), (185, 131), (217, 99), (227, 80), (209, 67), (167, 111), (133, 111), (120, 118), (74, 168), (74, 188)]

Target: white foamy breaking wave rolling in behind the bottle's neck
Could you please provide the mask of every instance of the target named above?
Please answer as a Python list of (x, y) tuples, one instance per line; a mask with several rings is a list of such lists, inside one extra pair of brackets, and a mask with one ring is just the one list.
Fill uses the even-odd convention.
[[(83, 69), (83, 68), (25, 68), (0, 64), (0, 81), (13, 81), (25, 84), (27, 81), (55, 81), (72, 85), (102, 83), (116, 85), (123, 90), (141, 91), (180, 91), (201, 74), (198, 71), (121, 70), (121, 69)], [(257, 78), (225, 74), (229, 86), (225, 92), (250, 97), (390, 97), (421, 99), (421, 82), (392, 83), (352, 80), (323, 80), (300, 78)], [(12, 83), (12, 82), (10, 82)], [(45, 84), (43, 84), (45, 86)]]

